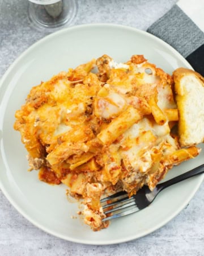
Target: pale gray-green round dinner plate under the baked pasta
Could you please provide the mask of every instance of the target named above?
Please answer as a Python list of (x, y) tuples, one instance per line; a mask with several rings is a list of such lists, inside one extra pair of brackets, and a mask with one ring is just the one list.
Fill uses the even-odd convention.
[[(147, 32), (113, 24), (88, 24), (60, 30), (33, 44), (8, 68), (0, 87), (3, 193), (25, 218), (45, 232), (92, 245), (134, 240), (162, 227), (189, 203), (203, 180), (200, 175), (173, 185), (141, 212), (113, 220), (109, 228), (93, 232), (77, 216), (79, 205), (67, 200), (65, 185), (48, 185), (39, 181), (37, 171), (27, 171), (27, 151), (19, 132), (13, 129), (15, 111), (24, 104), (32, 86), (104, 53), (117, 62), (143, 54), (170, 74), (178, 67), (191, 68), (175, 49)], [(196, 159), (173, 168), (165, 179), (199, 166), (203, 159), (201, 152)]]

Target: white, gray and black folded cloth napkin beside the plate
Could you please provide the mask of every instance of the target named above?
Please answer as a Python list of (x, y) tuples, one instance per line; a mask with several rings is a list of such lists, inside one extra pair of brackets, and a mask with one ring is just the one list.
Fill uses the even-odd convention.
[(180, 0), (147, 32), (170, 44), (204, 76), (203, 0)]

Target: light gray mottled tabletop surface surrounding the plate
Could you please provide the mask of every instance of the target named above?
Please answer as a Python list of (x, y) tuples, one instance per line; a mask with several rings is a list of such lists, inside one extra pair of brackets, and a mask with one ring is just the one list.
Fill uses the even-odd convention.
[[(176, 0), (78, 1), (72, 25), (108, 22), (146, 30)], [(36, 30), (27, 0), (0, 0), (0, 77), (25, 49), (49, 32)], [(146, 237), (110, 246), (80, 245), (50, 236), (25, 220), (0, 191), (0, 255), (204, 255), (204, 184), (188, 207)]]

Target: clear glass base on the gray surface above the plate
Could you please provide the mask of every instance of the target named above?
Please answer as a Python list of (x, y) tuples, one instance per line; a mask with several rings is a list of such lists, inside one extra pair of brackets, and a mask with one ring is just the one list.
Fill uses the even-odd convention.
[(69, 26), (76, 12), (76, 0), (29, 0), (29, 19), (37, 27)]

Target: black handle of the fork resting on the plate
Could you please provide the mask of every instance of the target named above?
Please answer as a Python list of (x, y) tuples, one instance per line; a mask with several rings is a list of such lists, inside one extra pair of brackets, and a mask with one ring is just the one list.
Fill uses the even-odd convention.
[(169, 187), (169, 186), (171, 186), (173, 184), (176, 184), (176, 183), (178, 183), (178, 182), (180, 182), (182, 180), (186, 180), (189, 177), (193, 177), (193, 176), (196, 176), (198, 174), (203, 174), (203, 173), (204, 173), (204, 164), (194, 168), (191, 171), (185, 172), (185, 174), (181, 174), (179, 176), (174, 177), (171, 180), (167, 180), (167, 181), (165, 181), (163, 183), (160, 183), (156, 187), (159, 189), (159, 191), (161, 191), (162, 189), (167, 188), (167, 187)]

